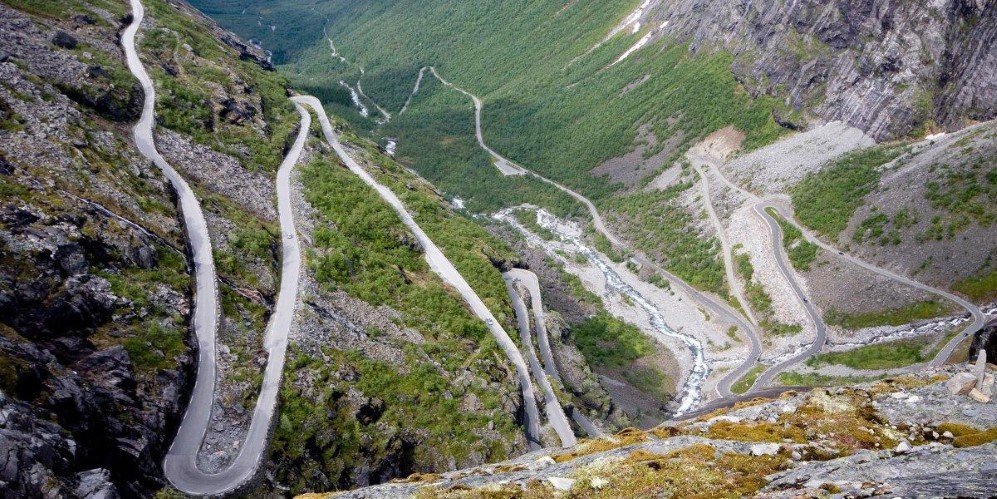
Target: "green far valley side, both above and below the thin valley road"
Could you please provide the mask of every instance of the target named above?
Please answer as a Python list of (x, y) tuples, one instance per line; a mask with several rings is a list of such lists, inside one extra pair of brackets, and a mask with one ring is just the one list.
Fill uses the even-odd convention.
[[(433, 66), (484, 101), (482, 125), (490, 146), (577, 189), (610, 215), (633, 204), (614, 198), (633, 193), (605, 174), (590, 172), (638, 143), (645, 158), (668, 148), (662, 164), (640, 174), (639, 186), (653, 177), (654, 168), (670, 164), (724, 126), (745, 131), (748, 149), (783, 132), (772, 118), (778, 103), (748, 95), (734, 80), (732, 58), (723, 51), (707, 47), (694, 53), (665, 36), (614, 64), (647, 27), (590, 51), (637, 3), (195, 1), (231, 29), (273, 50), (294, 86), (322, 98), (357, 130), (382, 144), (389, 137), (397, 139), (402, 163), (466, 201), (471, 211), (529, 202), (560, 215), (582, 216), (577, 203), (543, 183), (501, 176), (475, 140), (470, 98), (443, 86), (428, 71), (406, 112), (399, 112), (419, 69)], [(343, 59), (333, 55), (326, 35)], [(370, 116), (357, 112), (341, 81), (354, 87), (360, 82), (369, 97), (361, 100)], [(378, 123), (374, 103), (393, 119)], [(669, 204), (668, 193), (638, 197), (647, 206)], [(681, 258), (663, 255), (661, 263), (697, 287), (722, 292), (714, 242), (685, 230), (691, 217), (673, 215), (678, 218), (672, 232), (687, 234), (686, 246), (698, 248), (697, 261), (690, 267)]]

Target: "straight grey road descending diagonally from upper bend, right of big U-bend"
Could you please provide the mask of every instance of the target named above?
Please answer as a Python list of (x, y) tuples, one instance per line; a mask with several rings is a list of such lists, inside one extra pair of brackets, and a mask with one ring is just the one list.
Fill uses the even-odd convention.
[[(506, 357), (510, 362), (516, 367), (516, 375), (519, 378), (519, 385), (523, 393), (523, 401), (526, 407), (526, 418), (527, 426), (532, 424), (533, 421), (539, 421), (539, 412), (536, 407), (536, 396), (533, 392), (533, 384), (530, 382), (530, 373), (527, 368), (526, 361), (523, 359), (522, 354), (519, 352), (516, 343), (512, 341), (509, 334), (506, 333), (505, 329), (499, 324), (492, 315), (488, 307), (481, 300), (474, 289), (464, 280), (464, 277), (457, 271), (453, 263), (440, 251), (436, 243), (429, 238), (428, 235), (419, 227), (412, 215), (409, 214), (408, 210), (402, 201), (395, 195), (391, 189), (377, 182), (367, 170), (364, 170), (349, 154), (346, 153), (346, 149), (343, 148), (342, 144), (339, 143), (339, 138), (336, 136), (335, 131), (332, 128), (332, 124), (329, 122), (329, 117), (325, 114), (325, 109), (322, 107), (322, 103), (315, 97), (312, 96), (296, 96), (291, 98), (297, 104), (311, 107), (312, 110), (318, 115), (319, 124), (322, 126), (322, 133), (325, 136), (326, 142), (329, 146), (336, 152), (339, 159), (346, 165), (347, 168), (353, 174), (360, 177), (364, 183), (373, 188), (381, 199), (386, 201), (398, 214), (398, 217), (402, 220), (402, 223), (408, 227), (409, 230), (415, 234), (416, 239), (422, 244), (425, 251), (426, 261), (429, 263), (429, 267), (439, 275), (444, 282), (449, 284), (457, 291), (458, 294), (464, 298), (464, 301), (470, 306), (471, 311), (480, 318), (488, 326), (488, 330), (495, 337), (498, 342), (499, 347), (505, 352)], [(546, 404), (545, 406), (547, 412), (548, 421), (559, 421), (566, 420), (567, 417), (564, 415), (564, 411), (561, 409), (559, 404)]]

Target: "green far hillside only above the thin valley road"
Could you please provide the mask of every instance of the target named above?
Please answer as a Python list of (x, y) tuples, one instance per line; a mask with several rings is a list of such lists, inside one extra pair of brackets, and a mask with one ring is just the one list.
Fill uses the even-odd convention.
[[(660, 142), (680, 134), (682, 146), (728, 124), (748, 133), (748, 148), (780, 133), (771, 117), (776, 103), (752, 99), (740, 89), (723, 52), (693, 55), (665, 39), (610, 66), (643, 34), (638, 33), (617, 36), (575, 60), (636, 4), (195, 2), (272, 48), (276, 62), (302, 88), (332, 88), (340, 79), (353, 84), (356, 65), (363, 65), (367, 95), (389, 112), (401, 108), (418, 69), (435, 66), (485, 101), (485, 136), (496, 150), (592, 197), (618, 186), (588, 171), (632, 149), (640, 125), (650, 124)], [(330, 54), (326, 20), (326, 32), (347, 63)], [(422, 114), (396, 116), (389, 130), (422, 132), (430, 118), (457, 126), (455, 120), (469, 107), (467, 99), (438, 101)]]

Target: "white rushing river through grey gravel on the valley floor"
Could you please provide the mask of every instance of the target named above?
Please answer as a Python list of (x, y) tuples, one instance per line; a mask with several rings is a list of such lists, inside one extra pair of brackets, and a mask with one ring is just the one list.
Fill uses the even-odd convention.
[(706, 362), (702, 342), (691, 335), (681, 333), (669, 327), (665, 322), (664, 314), (654, 304), (634, 289), (633, 286), (627, 284), (623, 277), (613, 269), (601, 254), (589, 248), (582, 241), (582, 230), (576, 224), (560, 220), (546, 210), (537, 209), (537, 223), (554, 233), (567, 246), (567, 248), (555, 248), (551, 242), (545, 241), (543, 238), (533, 234), (529, 229), (520, 225), (515, 217), (512, 216), (512, 211), (513, 209), (502, 210), (495, 214), (494, 217), (509, 223), (523, 233), (530, 244), (542, 247), (549, 255), (562, 262), (564, 260), (560, 258), (560, 255), (556, 251), (557, 249), (569, 249), (585, 256), (606, 278), (607, 291), (626, 297), (631, 303), (647, 314), (657, 341), (666, 343), (668, 338), (673, 338), (682, 342), (689, 349), (689, 353), (692, 354), (693, 359), (692, 370), (689, 372), (689, 376), (686, 378), (680, 392), (679, 408), (675, 412), (675, 415), (680, 416), (698, 406), (703, 401), (703, 384), (710, 375), (710, 367)]

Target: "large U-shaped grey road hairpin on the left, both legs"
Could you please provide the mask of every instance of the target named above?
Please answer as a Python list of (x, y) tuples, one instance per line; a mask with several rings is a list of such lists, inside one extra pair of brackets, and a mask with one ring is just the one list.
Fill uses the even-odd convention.
[(143, 156), (162, 170), (177, 191), (180, 211), (187, 229), (194, 260), (194, 314), (193, 328), (198, 344), (197, 377), (187, 411), (177, 430), (170, 450), (163, 460), (166, 478), (180, 491), (192, 495), (220, 495), (232, 492), (247, 483), (259, 469), (266, 450), (270, 426), (277, 408), (287, 350), (287, 335), (294, 319), (297, 302), (298, 280), (301, 270), (300, 248), (294, 228), (294, 215), (290, 201), (290, 174), (298, 161), (308, 136), (310, 116), (298, 106), (301, 129), (294, 145), (288, 151), (277, 173), (277, 208), (281, 229), (281, 282), (277, 303), (267, 324), (264, 348), (267, 366), (252, 420), (239, 454), (232, 463), (218, 473), (205, 473), (197, 467), (197, 453), (204, 440), (216, 381), (215, 340), (218, 327), (218, 288), (211, 239), (201, 205), (193, 190), (172, 166), (159, 154), (153, 138), (156, 92), (152, 79), (146, 72), (135, 49), (145, 9), (140, 0), (130, 0), (131, 24), (121, 37), (128, 69), (139, 80), (145, 94), (142, 116), (134, 128), (135, 145)]

